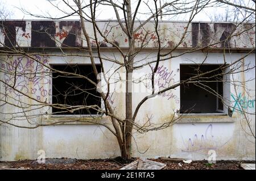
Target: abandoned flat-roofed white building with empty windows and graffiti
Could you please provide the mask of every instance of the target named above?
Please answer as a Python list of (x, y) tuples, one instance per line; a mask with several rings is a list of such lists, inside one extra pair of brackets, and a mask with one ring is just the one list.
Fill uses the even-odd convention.
[[(39, 150), (45, 151), (46, 158), (118, 157), (117, 139), (106, 127), (97, 124), (110, 122), (109, 116), (99, 115), (93, 108), (61, 112), (56, 107), (42, 106), (43, 103), (62, 103), (104, 107), (100, 94), (92, 85), (76, 77), (51, 73), (48, 69), (79, 73), (97, 81), (92, 74), (90, 57), (85, 56), (88, 45), (81, 22), (7, 20), (0, 23), (0, 161), (36, 159)], [(104, 36), (112, 41), (103, 41), (98, 35), (101, 56), (105, 57), (105, 72), (114, 69), (122, 79), (125, 68), (115, 67), (115, 61), (123, 61), (118, 48), (127, 50), (127, 36), (118, 22), (97, 23)], [(156, 87), (166, 88), (189, 78), (196, 73), (198, 65), (201, 72), (207, 72), (239, 61), (222, 70), (227, 73), (225, 76), (212, 76), (216, 74), (213, 71), (207, 79), (209, 89), (223, 99), (196, 84), (180, 85), (148, 99), (140, 108), (137, 121), (144, 123), (150, 117), (150, 123), (160, 125), (174, 115), (181, 115), (181, 118), (158, 131), (134, 131), (133, 157), (208, 159), (209, 151), (213, 151), (216, 159), (255, 160), (255, 24), (192, 22), (180, 43), (187, 25), (187, 22), (159, 22), (161, 51), (168, 52), (178, 46), (164, 57), (165, 61), (159, 62), (154, 80)], [(85, 22), (85, 27), (91, 37), (93, 53), (96, 53), (92, 24)], [(158, 38), (152, 22), (144, 24), (134, 39), (139, 49), (135, 55), (138, 69), (133, 71), (134, 76), (150, 77), (151, 66), (155, 64), (147, 65), (147, 62), (154, 61), (158, 54)], [(144, 42), (147, 43), (142, 46)], [(197, 50), (199, 47), (205, 48)], [(101, 72), (97, 58), (96, 64), (97, 71)], [(143, 64), (145, 66), (141, 66)], [(228, 74), (232, 68), (236, 73)], [(75, 84), (80, 86), (69, 91)], [(121, 87), (125, 90), (125, 85), (119, 81), (118, 85), (111, 84), (110, 89)], [(133, 90), (134, 110), (144, 96), (150, 94), (137, 88)], [(82, 91), (84, 89), (88, 91)], [(117, 115), (123, 117), (125, 92), (112, 91), (108, 100)], [(31, 106), (25, 109), (24, 104)], [(97, 123), (77, 119), (94, 119)], [(58, 124), (58, 121), (65, 123)], [(51, 123), (56, 124), (40, 126)]]

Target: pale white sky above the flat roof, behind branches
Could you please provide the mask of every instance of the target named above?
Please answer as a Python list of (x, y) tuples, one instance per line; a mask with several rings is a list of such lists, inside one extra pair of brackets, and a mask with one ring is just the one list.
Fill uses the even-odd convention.
[[(57, 2), (57, 1), (54, 1)], [(86, 2), (89, 2), (86, 0)], [(132, 1), (136, 3), (135, 1)], [(153, 1), (148, 1), (147, 5), (150, 7), (154, 7), (154, 4), (150, 5)], [(26, 15), (22, 11), (20, 11), (20, 8), (26, 9), (28, 12), (31, 12), (32, 14), (39, 14), (39, 15), (51, 15), (53, 18), (56, 18), (61, 15), (61, 12), (58, 11), (55, 7), (53, 7), (49, 2), (46, 0), (0, 0), (0, 6), (5, 6), (5, 9), (9, 10), (11, 12), (10, 19), (39, 19), (35, 18), (31, 15)], [(148, 9), (147, 5), (144, 3), (141, 3), (142, 9)], [(70, 9), (66, 6), (62, 6), (61, 10), (67, 11)], [(221, 12), (225, 12), (224, 8), (208, 8), (205, 9), (204, 12), (201, 12), (199, 15), (197, 15), (194, 19), (194, 21), (210, 21), (209, 15), (218, 14)], [(97, 19), (116, 19), (114, 10), (112, 7), (105, 7), (105, 9), (101, 9), (101, 11), (98, 12)], [(139, 19), (145, 19), (144, 15), (138, 14)], [(79, 19), (79, 17), (69, 17), (66, 19)], [(164, 19), (167, 20), (167, 19)], [(179, 16), (176, 19), (172, 20), (186, 20), (184, 19), (184, 16)]]

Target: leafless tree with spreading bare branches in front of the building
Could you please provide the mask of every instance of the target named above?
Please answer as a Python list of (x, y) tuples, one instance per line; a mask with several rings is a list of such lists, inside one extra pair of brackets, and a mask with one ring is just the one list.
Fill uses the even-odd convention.
[[(49, 1), (50, 3), (53, 2)], [(86, 44), (86, 48), (81, 46), (69, 46), (64, 42), (61, 42), (61, 37), (67, 36), (67, 32), (60, 32), (58, 35), (59, 39), (54, 39), (59, 46), (59, 53), (31, 53), (29, 50), (19, 46), (19, 43), (11, 41), (9, 37), (9, 45), (1, 42), (4, 49), (0, 50), (1, 61), (5, 66), (1, 67), (1, 73), (9, 76), (7, 79), (1, 79), (1, 84), (5, 89), (1, 92), (1, 105), (10, 104), (13, 107), (19, 108), (20, 112), (1, 112), (1, 123), (14, 125), (20, 128), (37, 128), (40, 126), (64, 124), (70, 122), (88, 122), (103, 125), (108, 128), (110, 132), (117, 138), (119, 149), (121, 151), (121, 157), (124, 159), (131, 158), (131, 142), (133, 140), (134, 132), (144, 133), (148, 131), (158, 131), (159, 129), (168, 128), (175, 124), (177, 121), (183, 118), (184, 113), (193, 111), (193, 106), (182, 108), (180, 110), (171, 110), (173, 117), (161, 124), (152, 123), (152, 115), (148, 115), (147, 120), (138, 120), (138, 113), (142, 110), (144, 104), (147, 104), (149, 99), (155, 98), (156, 96), (166, 94), (170, 90), (174, 90), (177, 87), (183, 86), (184, 89), (189, 86), (197, 86), (200, 89), (210, 92), (210, 94), (216, 96), (219, 99), (222, 107), (227, 110), (230, 109), (230, 101), (227, 100), (221, 92), (214, 90), (211, 83), (221, 82), (230, 83), (236, 86), (244, 85), (245, 81), (234, 81), (231, 78), (224, 79), (224, 77), (230, 77), (238, 73), (246, 72), (254, 69), (254, 65), (241, 64), (242, 60), (249, 56), (255, 51), (255, 44), (251, 42), (250, 48), (242, 57), (237, 60), (226, 61), (226, 54), (228, 54), (230, 48), (230, 39), (238, 36), (247, 35), (248, 32), (255, 30), (255, 24), (246, 24), (249, 19), (255, 15), (255, 9), (251, 7), (245, 8), (243, 5), (231, 4), (231, 6), (237, 9), (245, 9), (247, 14), (243, 16), (240, 22), (236, 22), (229, 28), (228, 32), (222, 34), (220, 40), (215, 41), (214, 37), (210, 37), (197, 42), (192, 45), (191, 48), (187, 48), (187, 37), (191, 33), (196, 31), (196, 26), (192, 26), (192, 20), (197, 14), (206, 8), (219, 6), (230, 3), (228, 1), (159, 1), (154, 0), (148, 2), (137, 1), (135, 4), (130, 0), (117, 1), (112, 0), (101, 1), (101, 0), (90, 0), (90, 2), (81, 2), (80, 0), (73, 1), (61, 1), (70, 11), (63, 11), (59, 5), (55, 6), (59, 11), (62, 11), (65, 15), (57, 19), (66, 18), (68, 16), (77, 15), (80, 18), (80, 26), (82, 31), (83, 41)], [(142, 9), (143, 6), (143, 9)], [(111, 7), (115, 12), (115, 21), (107, 21), (102, 26), (101, 22), (97, 20), (98, 9), (102, 7)], [(145, 10), (145, 7), (147, 10)], [(137, 17), (143, 14), (146, 20), (141, 21)], [(183, 31), (180, 35), (177, 35), (176, 42), (166, 42), (163, 40), (163, 30), (160, 26), (160, 19), (163, 17), (177, 16), (177, 15), (188, 15), (188, 21), (184, 23)], [(40, 15), (36, 15), (40, 17)], [(238, 16), (237, 16), (238, 17)], [(240, 16), (239, 16), (240, 17)], [(51, 18), (51, 17), (45, 17)], [(53, 19), (53, 18), (51, 18)], [(56, 19), (56, 18), (55, 18)], [(228, 20), (228, 19), (225, 19)], [(150, 24), (151, 28), (148, 28)], [(7, 25), (2, 23), (2, 31), (5, 31), (6, 35), (11, 35)], [(22, 27), (20, 27), (22, 28)], [(127, 47), (122, 48), (119, 43), (113, 39), (112, 33), (114, 29), (119, 29), (120, 35), (125, 37)], [(205, 30), (207, 27), (205, 27)], [(203, 30), (204, 31), (204, 30)], [(42, 33), (42, 32), (41, 32)], [(44, 30), (51, 36), (51, 32), (47, 29)], [(71, 32), (71, 35), (76, 35), (76, 32)], [(29, 35), (24, 35), (29, 36)], [(119, 36), (119, 35), (118, 35)], [(52, 36), (51, 36), (52, 37)], [(152, 43), (152, 40), (155, 40)], [(138, 58), (138, 54), (142, 50), (147, 49), (149, 45), (154, 45), (155, 56), (145, 57), (143, 59)], [(105, 56), (105, 47), (113, 47), (117, 52), (113, 56)], [(184, 50), (180, 53), (176, 53), (176, 50), (183, 46)], [(224, 63), (218, 66), (214, 66), (211, 69), (205, 69), (205, 61), (208, 58), (208, 50), (214, 47), (220, 47), (223, 52)], [(69, 52), (69, 48), (73, 50)], [(197, 52), (202, 50), (205, 52), (205, 57), (201, 60), (200, 64), (195, 64), (190, 61), (193, 66), (192, 74), (184, 77), (178, 82), (172, 81), (166, 85), (156, 85), (156, 79), (159, 76), (161, 70), (160, 64), (172, 60), (177, 57), (181, 57), (184, 54)], [(20, 60), (10, 64), (7, 56), (22, 56)], [(82, 69), (77, 65), (67, 62), (67, 65), (63, 67), (50, 66), (47, 64), (48, 56), (68, 56), (68, 57), (81, 57), (84, 60), (90, 61), (91, 73), (84, 73)], [(28, 68), (27, 64), (24, 65), (22, 61), (26, 59), (31, 64), (34, 64), (33, 68)], [(112, 65), (113, 71), (110, 71), (109, 66), (106, 65), (108, 62)], [(146, 71), (143, 75), (137, 76), (137, 72), (149, 68), (150, 71)], [(121, 75), (123, 70), (124, 75)], [(241, 70), (242, 69), (242, 70)], [(162, 71), (162, 70), (161, 70)], [(93, 75), (92, 75), (93, 74)], [(169, 76), (170, 74), (164, 74), (163, 76)], [(171, 75), (170, 75), (171, 76)], [(50, 99), (42, 99), (29, 94), (33, 87), (27, 87), (19, 83), (21, 80), (28, 80), (30, 82), (36, 82), (40, 80), (40, 83), (47, 85), (51, 77), (52, 81), (57, 79), (60, 84), (64, 85), (65, 80), (76, 78), (82, 81), (71, 81), (65, 83), (65, 86), (69, 86), (65, 91), (60, 91), (57, 88), (55, 93)], [(97, 77), (97, 79), (96, 79)], [(148, 82), (149, 81), (149, 82)], [(247, 80), (248, 81), (248, 80)], [(252, 81), (252, 80), (249, 80)], [(112, 104), (113, 85), (125, 85), (125, 113), (122, 115), (117, 112), (116, 107), (118, 105)], [(86, 86), (85, 86), (86, 85)], [(146, 95), (139, 100), (138, 104), (134, 106), (133, 94), (135, 86), (146, 87)], [(61, 86), (61, 85), (59, 85)], [(53, 87), (54, 88), (54, 87)], [(31, 90), (29, 90), (31, 89)], [(97, 90), (97, 93), (96, 93)], [(33, 90), (32, 90), (33, 91)], [(39, 87), (40, 94), (51, 94), (46, 89)], [(53, 91), (53, 90), (52, 90)], [(117, 90), (114, 90), (117, 91)], [(13, 96), (11, 92), (14, 92), (16, 96)], [(75, 100), (75, 96), (82, 95)], [(144, 94), (143, 94), (144, 95)], [(22, 98), (23, 97), (23, 98)], [(73, 102), (70, 101), (69, 97), (73, 97)], [(26, 99), (24, 99), (26, 98)], [(82, 100), (80, 101), (79, 99)], [(101, 105), (102, 104), (102, 105)], [(222, 110), (223, 110), (222, 108)], [(246, 112), (244, 110), (243, 112)], [(77, 119), (71, 120), (57, 120), (51, 123), (38, 123), (35, 121), (36, 117), (47, 117), (50, 115), (61, 115), (61, 114), (73, 114), (80, 115)], [(249, 114), (255, 114), (255, 112), (246, 112)], [(84, 117), (83, 115), (91, 115), (91, 117)], [(108, 117), (106, 121), (98, 121), (97, 116)], [(20, 124), (22, 121), (27, 121), (28, 124)], [(252, 134), (253, 131), (251, 131)], [(255, 134), (254, 134), (255, 135)], [(254, 136), (255, 138), (255, 136)]]

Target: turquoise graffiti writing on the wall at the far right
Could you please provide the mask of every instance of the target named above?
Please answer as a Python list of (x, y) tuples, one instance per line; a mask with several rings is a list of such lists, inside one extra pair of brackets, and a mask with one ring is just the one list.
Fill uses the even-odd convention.
[(242, 111), (246, 110), (247, 108), (254, 108), (255, 99), (250, 99), (246, 96), (243, 96), (241, 92), (237, 96), (231, 94), (231, 98), (233, 103), (233, 112), (238, 111), (242, 113)]

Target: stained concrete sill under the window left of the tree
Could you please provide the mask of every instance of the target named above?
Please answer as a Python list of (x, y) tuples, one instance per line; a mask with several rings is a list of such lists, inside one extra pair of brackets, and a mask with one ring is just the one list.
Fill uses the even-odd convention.
[[(79, 124), (98, 124), (103, 123), (101, 115), (48, 115), (43, 116), (43, 124), (53, 125), (79, 125)], [(56, 124), (55, 124), (56, 123)]]

